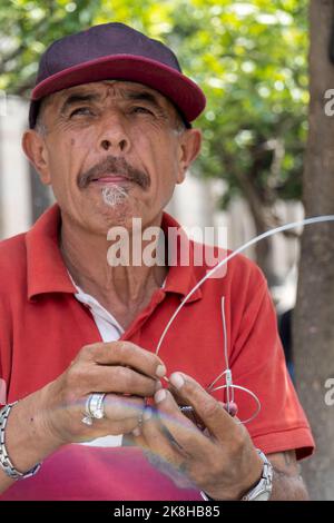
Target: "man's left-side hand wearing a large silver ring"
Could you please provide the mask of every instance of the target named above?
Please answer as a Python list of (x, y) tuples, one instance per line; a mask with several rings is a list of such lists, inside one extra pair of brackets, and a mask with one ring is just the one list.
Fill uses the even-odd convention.
[[(165, 372), (158, 356), (130, 342), (82, 347), (57, 379), (12, 407), (6, 446), (13, 466), (27, 472), (67, 443), (131, 432)], [(97, 392), (106, 393), (106, 417), (88, 426), (82, 423), (86, 402)], [(0, 493), (11, 483), (0, 470)]]

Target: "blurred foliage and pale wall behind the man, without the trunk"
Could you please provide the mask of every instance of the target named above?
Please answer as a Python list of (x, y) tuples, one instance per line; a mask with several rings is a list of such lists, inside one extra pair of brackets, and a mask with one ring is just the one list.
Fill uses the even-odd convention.
[[(7, 93), (7, 115), (0, 120), (0, 237), (26, 230), (52, 200), (20, 146), (40, 55), (66, 33), (110, 20), (171, 46), (207, 96), (197, 122), (204, 131), (202, 157), (168, 210), (186, 226), (227, 225), (230, 248), (301, 218), (306, 8), (303, 1), (3, 3), (0, 89)], [(276, 236), (248, 255), (264, 269), (278, 307), (293, 305), (296, 238)]]

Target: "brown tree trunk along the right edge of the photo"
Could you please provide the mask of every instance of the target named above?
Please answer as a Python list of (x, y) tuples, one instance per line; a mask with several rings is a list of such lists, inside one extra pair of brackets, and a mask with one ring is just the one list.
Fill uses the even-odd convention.
[[(307, 217), (334, 214), (334, 117), (326, 116), (324, 98), (327, 89), (334, 89), (334, 65), (328, 59), (333, 20), (333, 0), (311, 0), (310, 131), (303, 180)], [(303, 463), (313, 500), (334, 500), (334, 405), (325, 402), (325, 383), (334, 377), (333, 260), (334, 224), (306, 227), (294, 314), (294, 355), (298, 394), (317, 446), (314, 457)]]

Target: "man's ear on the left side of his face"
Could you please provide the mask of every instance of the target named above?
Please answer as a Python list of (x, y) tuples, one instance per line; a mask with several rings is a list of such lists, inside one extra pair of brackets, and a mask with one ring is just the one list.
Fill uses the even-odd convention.
[(50, 185), (48, 150), (43, 137), (33, 129), (27, 130), (22, 137), (22, 149), (39, 174), (41, 182)]

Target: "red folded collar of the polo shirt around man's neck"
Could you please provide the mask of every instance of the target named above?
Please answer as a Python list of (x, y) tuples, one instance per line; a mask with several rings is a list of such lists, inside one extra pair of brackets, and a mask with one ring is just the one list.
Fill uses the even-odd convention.
[[(60, 225), (60, 208), (58, 204), (55, 204), (42, 214), (26, 235), (29, 300), (49, 293), (77, 293), (59, 249)], [(161, 228), (166, 237), (169, 227), (176, 227), (180, 234), (185, 235), (180, 225), (167, 213), (164, 213)], [(197, 278), (194, 274), (191, 255), (193, 243), (190, 241), (190, 264), (189, 266), (181, 266), (176, 260), (177, 265), (169, 267), (164, 287), (165, 293), (177, 293), (185, 297), (196, 285)], [(200, 297), (202, 292), (197, 289), (188, 302), (194, 302)]]

